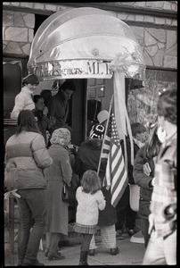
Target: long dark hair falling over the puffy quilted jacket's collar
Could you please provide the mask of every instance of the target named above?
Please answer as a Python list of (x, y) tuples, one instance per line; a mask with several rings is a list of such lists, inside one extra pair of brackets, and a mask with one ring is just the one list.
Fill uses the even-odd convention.
[(37, 127), (37, 121), (34, 113), (30, 110), (22, 110), (19, 113), (18, 126), (15, 133), (18, 135), (22, 130), (41, 133)]

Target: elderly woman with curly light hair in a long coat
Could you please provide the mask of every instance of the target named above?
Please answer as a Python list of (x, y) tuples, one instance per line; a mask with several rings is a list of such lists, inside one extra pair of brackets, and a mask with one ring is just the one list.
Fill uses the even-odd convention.
[(45, 169), (47, 180), (46, 206), (47, 223), (46, 231), (46, 255), (49, 260), (61, 259), (64, 256), (57, 253), (58, 242), (61, 234), (68, 236), (68, 207), (69, 204), (61, 199), (61, 191), (64, 182), (70, 185), (72, 170), (70, 166), (70, 155), (66, 147), (70, 144), (70, 131), (61, 128), (53, 131), (50, 140), (49, 155), (53, 158), (51, 168)]

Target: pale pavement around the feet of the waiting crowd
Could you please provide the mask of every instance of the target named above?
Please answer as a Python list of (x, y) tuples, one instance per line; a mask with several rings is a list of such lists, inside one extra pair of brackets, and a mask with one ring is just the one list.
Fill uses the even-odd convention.
[[(88, 264), (89, 265), (141, 265), (143, 262), (144, 255), (144, 244), (135, 243), (130, 241), (130, 237), (127, 233), (122, 234), (124, 239), (121, 239), (117, 236), (117, 247), (119, 247), (118, 255), (110, 255), (110, 249), (101, 247), (101, 235), (95, 235), (96, 248), (95, 255), (88, 255)], [(39, 249), (37, 259), (40, 263), (45, 264), (45, 266), (72, 266), (78, 265), (80, 247), (82, 238), (77, 233), (70, 231), (69, 238), (70, 243), (73, 243), (73, 247), (60, 247), (61, 255), (65, 255), (65, 259), (62, 260), (53, 260), (49, 261), (45, 257), (45, 239), (42, 240), (42, 248)], [(6, 244), (7, 247), (7, 244)], [(7, 249), (7, 248), (6, 248)], [(5, 250), (6, 254), (4, 255), (4, 265), (11, 266), (10, 260), (8, 257), (8, 250)], [(17, 255), (17, 242), (15, 242), (14, 248), (14, 265), (18, 263)]]

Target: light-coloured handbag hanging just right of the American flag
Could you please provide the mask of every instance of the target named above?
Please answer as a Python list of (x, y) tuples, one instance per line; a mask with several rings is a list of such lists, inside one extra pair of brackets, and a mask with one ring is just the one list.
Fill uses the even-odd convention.
[(140, 198), (140, 187), (136, 184), (129, 184), (130, 197), (129, 203), (133, 211), (139, 211), (139, 198)]

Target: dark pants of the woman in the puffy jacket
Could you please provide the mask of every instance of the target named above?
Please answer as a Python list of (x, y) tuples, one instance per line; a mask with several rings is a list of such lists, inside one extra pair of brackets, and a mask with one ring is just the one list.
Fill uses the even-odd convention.
[(17, 198), (20, 212), (19, 260), (33, 262), (37, 259), (40, 239), (45, 230), (45, 189), (20, 189), (18, 193), (20, 194), (20, 198)]

